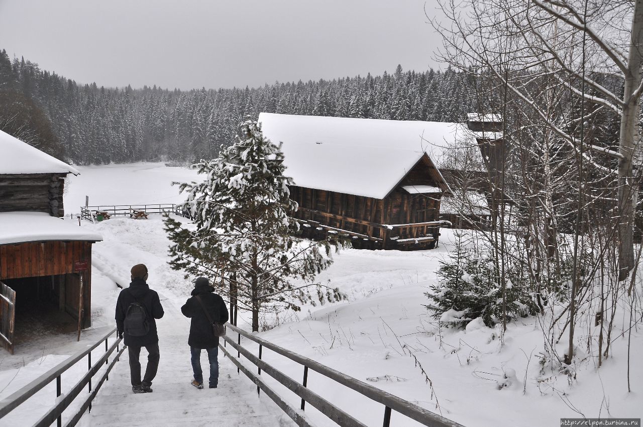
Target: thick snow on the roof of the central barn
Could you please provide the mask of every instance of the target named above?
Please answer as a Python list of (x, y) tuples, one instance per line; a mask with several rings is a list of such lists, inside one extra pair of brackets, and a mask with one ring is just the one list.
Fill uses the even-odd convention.
[[(428, 154), (435, 163), (458, 123), (261, 113), (264, 136), (284, 143), (285, 174), (298, 186), (383, 199)], [(448, 187), (447, 187), (448, 188)]]

